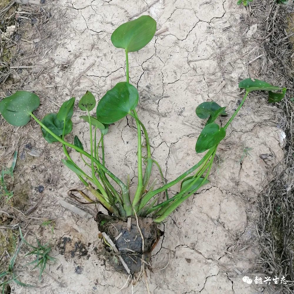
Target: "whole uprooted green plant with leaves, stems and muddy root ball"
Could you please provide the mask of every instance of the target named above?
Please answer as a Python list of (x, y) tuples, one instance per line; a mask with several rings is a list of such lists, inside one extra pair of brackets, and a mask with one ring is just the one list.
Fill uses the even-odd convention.
[[(226, 107), (220, 107), (216, 102), (203, 102), (196, 108), (196, 115), (207, 119), (195, 146), (196, 153), (206, 154), (193, 167), (184, 172), (174, 181), (155, 188), (155, 182), (149, 184), (152, 168), (158, 163), (151, 154), (147, 130), (138, 117), (136, 106), (139, 94), (129, 83), (129, 52), (138, 51), (146, 46), (156, 31), (156, 21), (150, 16), (141, 16), (119, 26), (112, 34), (111, 41), (117, 48), (126, 53), (126, 81), (117, 83), (100, 99), (96, 108), (96, 116), (90, 112), (96, 106), (96, 99), (89, 91), (80, 99), (78, 107), (86, 115), (80, 118), (89, 124), (90, 152), (83, 148), (77, 136), (73, 143), (65, 140), (72, 130), (71, 118), (74, 113), (75, 98), (65, 101), (57, 113), (49, 113), (39, 120), (33, 112), (39, 107), (40, 99), (34, 93), (17, 91), (0, 102), (0, 112), (4, 119), (14, 126), (24, 126), (32, 117), (40, 126), (48, 143), (59, 142), (63, 146), (66, 159), (62, 162), (81, 180), (86, 190), (96, 197), (96, 202), (106, 209), (108, 215), (98, 213), (96, 220), (101, 231), (102, 240), (108, 250), (110, 261), (117, 270), (126, 271), (129, 275), (143, 273), (145, 264), (149, 264), (151, 251), (155, 247), (160, 231), (157, 224), (164, 221), (188, 197), (196, 193), (209, 182), (208, 176), (213, 166), (218, 144), (226, 136), (226, 129), (235, 118), (251, 91), (269, 91), (268, 102), (280, 101), (286, 88), (272, 86), (266, 82), (245, 79), (239, 83), (239, 88), (245, 89), (245, 95), (225, 126), (219, 126), (215, 121), (219, 116), (227, 116)], [(273, 91), (281, 91), (279, 93)], [(129, 179), (124, 183), (108, 170), (104, 156), (104, 136), (108, 133), (109, 124), (116, 123), (125, 116), (131, 116), (136, 121), (138, 131), (138, 185), (134, 195), (130, 195)], [(97, 139), (99, 132), (100, 138)], [(146, 156), (142, 155), (142, 135), (145, 138)], [(91, 172), (78, 166), (71, 158), (67, 148), (79, 153), (81, 159)], [(143, 172), (143, 163), (145, 171)], [(159, 168), (160, 169), (160, 168)], [(161, 170), (160, 170), (161, 171)], [(162, 174), (162, 173), (161, 173)], [(170, 197), (168, 189), (181, 182), (181, 188), (176, 195)], [(119, 189), (115, 186), (118, 185)], [(83, 191), (75, 190), (88, 201), (94, 202)], [(165, 200), (159, 195), (164, 192)]]

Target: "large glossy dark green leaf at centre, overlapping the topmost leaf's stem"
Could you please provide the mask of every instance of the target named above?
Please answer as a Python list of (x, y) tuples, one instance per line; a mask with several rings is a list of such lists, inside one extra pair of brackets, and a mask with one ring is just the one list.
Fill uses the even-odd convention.
[(119, 82), (98, 102), (96, 116), (102, 123), (115, 123), (135, 109), (138, 101), (137, 89), (127, 82)]

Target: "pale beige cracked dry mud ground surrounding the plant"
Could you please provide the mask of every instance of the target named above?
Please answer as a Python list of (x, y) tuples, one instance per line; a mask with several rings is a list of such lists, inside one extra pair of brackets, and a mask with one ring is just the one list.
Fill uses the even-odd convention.
[[(254, 65), (248, 72), (246, 64), (247, 54), (258, 50), (258, 45), (242, 31), (240, 22), (245, 11), (234, 2), (61, 0), (58, 5), (65, 23), (60, 30), (64, 36), (54, 55), (68, 59), (70, 66), (63, 71), (58, 61), (48, 60), (53, 66), (53, 80), (44, 78), (41, 83), (64, 85), (54, 93), (59, 104), (71, 95), (81, 97), (86, 90), (100, 98), (125, 78), (124, 52), (112, 46), (111, 33), (127, 20), (151, 15), (158, 24), (156, 37), (139, 53), (129, 54), (130, 79), (138, 87), (138, 115), (147, 127), (153, 157), (170, 181), (201, 158), (195, 153), (203, 126), (195, 115), (196, 106), (213, 99), (233, 113), (240, 102), (238, 81), (256, 74)], [(257, 245), (252, 245), (252, 223), (258, 217), (255, 200), (273, 178), (273, 167), (283, 159), (283, 134), (275, 123), (275, 108), (266, 105), (263, 96), (251, 95), (218, 148), (211, 183), (161, 225), (164, 237), (154, 250), (153, 273), (147, 277), (150, 293), (256, 292), (254, 285), (242, 281), (253, 265), (249, 259), (258, 253)], [(45, 99), (41, 109), (56, 111)], [(74, 135), (86, 140), (88, 127), (78, 115), (73, 118), (78, 121)], [(226, 120), (221, 118), (221, 123)], [(39, 130), (37, 126), (35, 129)], [(130, 174), (133, 190), (137, 181), (136, 136), (136, 124), (128, 117), (110, 126), (105, 137), (108, 168), (124, 181)], [(42, 146), (46, 144), (40, 139)], [(245, 148), (252, 149), (242, 161)], [(273, 160), (261, 159), (259, 155), (264, 153), (273, 154)], [(74, 152), (71, 154), (77, 158)], [(88, 255), (74, 254), (71, 258), (60, 254), (57, 246), (53, 254), (58, 262), (48, 268), (49, 275), (40, 284), (46, 286), (27, 288), (26, 293), (114, 293), (125, 284), (126, 276), (114, 273), (103, 257), (98, 257), (101, 245), (94, 219), (81, 218), (59, 204), (67, 190), (81, 188), (78, 178), (61, 165), (61, 156), (61, 148), (47, 146), (41, 157), (43, 180), (55, 175), (56, 185), (52, 191), (50, 185), (45, 187), (46, 204), (51, 207), (40, 206), (39, 210), (46, 215), (50, 211), (51, 218), (56, 219), (55, 240), (79, 240)], [(151, 181), (160, 178), (154, 170)], [(38, 177), (42, 181), (42, 174), (33, 175)], [(173, 187), (171, 193), (178, 189), (179, 185)], [(26, 277), (27, 283), (38, 283), (33, 273)], [(147, 293), (143, 282), (134, 292)], [(120, 293), (132, 293), (131, 286)]]

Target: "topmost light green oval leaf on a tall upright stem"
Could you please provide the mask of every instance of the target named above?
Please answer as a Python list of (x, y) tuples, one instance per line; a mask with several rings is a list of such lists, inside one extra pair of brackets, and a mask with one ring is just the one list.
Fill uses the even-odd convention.
[(148, 15), (121, 24), (111, 35), (111, 42), (116, 48), (128, 52), (142, 49), (153, 38), (156, 32), (156, 21)]

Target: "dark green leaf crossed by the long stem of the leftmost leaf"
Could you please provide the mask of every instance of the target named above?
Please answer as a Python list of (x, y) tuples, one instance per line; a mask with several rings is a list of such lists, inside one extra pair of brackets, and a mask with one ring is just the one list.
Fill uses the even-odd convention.
[[(44, 125), (49, 128), (50, 131), (52, 131), (56, 136), (62, 137), (64, 123), (65, 123), (65, 131), (64, 135), (67, 135), (71, 132), (73, 123), (71, 120), (68, 121), (60, 121), (57, 118), (57, 113), (48, 113), (42, 118), (41, 120)], [(56, 138), (51, 136), (44, 128), (41, 127), (43, 137), (48, 143), (58, 142)]]

